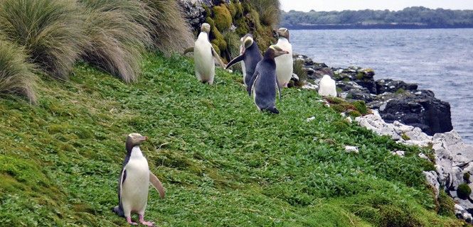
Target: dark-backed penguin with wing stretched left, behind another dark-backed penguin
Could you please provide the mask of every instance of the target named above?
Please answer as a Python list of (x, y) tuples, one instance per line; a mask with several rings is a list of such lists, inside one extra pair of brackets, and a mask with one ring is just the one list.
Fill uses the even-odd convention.
[(260, 49), (258, 49), (256, 41), (253, 40), (252, 34), (246, 34), (245, 36), (243, 36), (243, 38), (241, 38), (241, 41), (242, 44), (240, 45), (240, 55), (228, 62), (226, 69), (228, 69), (232, 65), (235, 65), (235, 63), (243, 61), (243, 82), (245, 83), (246, 87), (248, 87), (248, 84), (250, 84), (251, 77), (255, 73), (257, 63), (262, 60), (262, 55)]

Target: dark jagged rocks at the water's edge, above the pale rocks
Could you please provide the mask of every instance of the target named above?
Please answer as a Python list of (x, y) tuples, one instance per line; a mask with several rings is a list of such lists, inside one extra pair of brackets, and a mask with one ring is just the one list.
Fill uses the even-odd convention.
[[(398, 121), (420, 128), (427, 135), (452, 131), (450, 104), (435, 98), (429, 90), (418, 89), (393, 79), (374, 79), (375, 72), (361, 67), (334, 68), (313, 62), (307, 56), (294, 55), (304, 61), (304, 70), (312, 84), (319, 84), (324, 74), (336, 80), (338, 95), (344, 99), (363, 100), (366, 106), (379, 111), (388, 123)], [(313, 88), (307, 85), (307, 88)]]

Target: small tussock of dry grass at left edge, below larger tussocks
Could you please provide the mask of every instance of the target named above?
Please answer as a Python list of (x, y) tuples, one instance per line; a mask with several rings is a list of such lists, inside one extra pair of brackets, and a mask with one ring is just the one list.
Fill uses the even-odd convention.
[(26, 96), (36, 102), (36, 79), (28, 56), (14, 43), (0, 39), (0, 92)]

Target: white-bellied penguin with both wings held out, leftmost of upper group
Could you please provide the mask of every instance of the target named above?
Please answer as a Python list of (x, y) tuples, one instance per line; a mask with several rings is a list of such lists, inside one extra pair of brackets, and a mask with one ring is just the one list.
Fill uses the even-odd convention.
[(193, 48), (187, 48), (184, 55), (188, 52), (193, 52), (193, 59), (195, 63), (196, 77), (199, 81), (208, 84), (213, 84), (215, 77), (215, 63), (225, 68), (220, 59), (220, 55), (213, 49), (208, 34), (211, 32), (211, 26), (208, 23), (203, 23), (201, 26), (201, 33), (198, 35), (196, 43)]

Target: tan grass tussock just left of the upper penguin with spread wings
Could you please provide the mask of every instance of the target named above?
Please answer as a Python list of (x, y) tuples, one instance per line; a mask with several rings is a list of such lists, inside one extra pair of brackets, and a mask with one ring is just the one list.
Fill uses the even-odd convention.
[(144, 0), (152, 9), (149, 31), (154, 47), (169, 55), (193, 45), (191, 26), (184, 18), (177, 0)]

